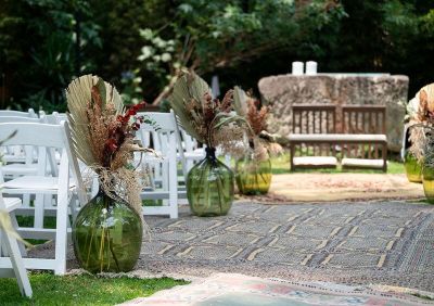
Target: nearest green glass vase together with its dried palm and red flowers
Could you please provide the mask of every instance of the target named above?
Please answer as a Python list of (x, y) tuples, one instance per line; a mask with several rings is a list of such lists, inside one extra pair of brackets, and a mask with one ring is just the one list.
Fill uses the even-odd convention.
[(133, 139), (145, 120), (136, 116), (144, 102), (125, 110), (117, 90), (92, 75), (73, 80), (66, 98), (74, 150), (100, 183), (74, 224), (76, 257), (91, 272), (130, 270), (143, 231), (141, 187), (130, 163), (141, 150)]

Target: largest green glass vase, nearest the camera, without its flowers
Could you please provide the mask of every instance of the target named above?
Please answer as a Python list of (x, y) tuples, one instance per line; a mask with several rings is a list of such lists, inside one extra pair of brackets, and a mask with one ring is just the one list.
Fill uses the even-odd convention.
[(75, 256), (92, 273), (127, 272), (139, 259), (142, 234), (139, 214), (120, 197), (100, 190), (74, 222)]

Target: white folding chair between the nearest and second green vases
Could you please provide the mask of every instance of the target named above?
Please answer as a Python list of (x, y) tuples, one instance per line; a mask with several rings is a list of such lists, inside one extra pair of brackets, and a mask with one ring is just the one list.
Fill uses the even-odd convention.
[(142, 191), (142, 200), (162, 200), (162, 206), (144, 206), (144, 215), (169, 215), (178, 218), (177, 139), (175, 117), (169, 113), (139, 113), (153, 125), (140, 125), (138, 138), (143, 145), (152, 142), (157, 156), (146, 154), (142, 163), (151, 166), (153, 186)]

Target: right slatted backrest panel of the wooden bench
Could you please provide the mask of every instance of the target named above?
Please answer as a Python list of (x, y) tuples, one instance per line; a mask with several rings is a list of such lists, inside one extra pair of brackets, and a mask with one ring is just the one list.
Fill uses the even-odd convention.
[(342, 106), (343, 133), (386, 133), (386, 107), (382, 105)]

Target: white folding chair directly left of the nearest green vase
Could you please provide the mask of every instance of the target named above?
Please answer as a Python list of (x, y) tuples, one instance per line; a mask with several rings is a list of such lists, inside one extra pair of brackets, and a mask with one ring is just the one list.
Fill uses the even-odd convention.
[[(18, 228), (18, 232), (26, 239), (55, 239), (54, 259), (24, 258), (27, 269), (54, 270), (56, 275), (63, 275), (66, 270), (66, 247), (68, 229), (68, 205), (74, 192), (79, 202), (87, 202), (86, 190), (78, 169), (76, 156), (72, 150), (72, 140), (67, 123), (61, 125), (47, 124), (0, 124), (0, 139), (5, 139), (13, 131), (16, 135), (8, 140), (5, 145), (36, 145), (38, 146), (38, 161), (43, 161), (42, 155), (49, 149), (62, 150), (59, 176), (48, 176), (44, 171), (46, 165), (39, 165), (38, 176), (23, 176), (0, 184), (3, 194), (35, 194), (35, 207), (17, 209), (21, 214), (34, 215), (34, 227)], [(73, 177), (71, 180), (69, 174)], [(56, 205), (44, 207), (43, 195), (54, 196)], [(75, 207), (72, 207), (75, 212)], [(56, 217), (56, 228), (43, 228), (44, 216)], [(0, 267), (5, 263), (0, 260)]]

